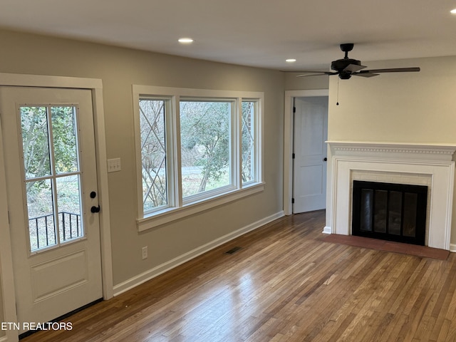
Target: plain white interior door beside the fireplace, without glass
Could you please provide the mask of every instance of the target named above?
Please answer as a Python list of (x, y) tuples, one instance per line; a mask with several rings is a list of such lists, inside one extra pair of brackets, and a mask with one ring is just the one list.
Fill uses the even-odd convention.
[(326, 207), (328, 98), (295, 98), (293, 212)]

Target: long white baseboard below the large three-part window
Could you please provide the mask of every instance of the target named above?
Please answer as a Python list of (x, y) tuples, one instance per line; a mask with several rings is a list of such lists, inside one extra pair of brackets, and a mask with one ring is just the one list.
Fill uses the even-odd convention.
[(274, 221), (274, 219), (279, 219), (280, 217), (283, 217), (283, 216), (284, 216), (283, 211), (277, 212), (276, 214), (273, 214), (269, 217), (265, 217), (264, 219), (261, 219), (257, 222), (249, 224), (246, 227), (237, 229), (235, 232), (224, 235), (223, 237), (219, 237), (218, 239), (215, 239), (212, 242), (209, 242), (207, 244), (202, 245), (201, 247), (193, 249), (190, 252), (182, 254), (179, 257), (176, 257), (175, 259), (171, 259), (170, 261), (166, 261), (163, 264), (155, 266), (153, 269), (142, 272), (142, 274), (138, 274), (138, 276), (134, 276), (133, 278), (130, 278), (127, 281), (123, 281), (123, 283), (115, 285), (114, 289), (113, 289), (114, 296), (118, 296), (119, 294), (122, 294), (125, 291), (133, 289), (135, 286), (145, 283), (145, 281), (155, 278), (156, 276), (159, 276), (160, 274), (163, 274), (166, 271), (170, 271), (170, 269), (174, 269), (176, 266), (179, 266), (180, 264), (184, 264), (185, 262), (187, 262), (191, 259), (194, 259), (201, 254), (209, 252), (211, 249), (219, 247), (220, 245), (227, 243), (227, 242), (231, 241), (232, 239), (240, 237), (243, 234), (252, 232), (252, 230), (257, 229), (261, 226), (264, 226), (264, 224), (268, 224), (269, 222)]

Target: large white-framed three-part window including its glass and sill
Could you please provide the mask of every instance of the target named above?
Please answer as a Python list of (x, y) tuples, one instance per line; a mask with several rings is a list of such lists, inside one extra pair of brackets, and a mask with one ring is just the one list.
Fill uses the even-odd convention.
[(133, 86), (138, 228), (263, 190), (262, 93)]

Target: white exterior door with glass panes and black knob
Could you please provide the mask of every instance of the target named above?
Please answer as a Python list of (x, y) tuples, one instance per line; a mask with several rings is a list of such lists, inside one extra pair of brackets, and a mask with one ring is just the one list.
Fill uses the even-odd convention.
[(18, 321), (46, 322), (103, 297), (92, 96), (3, 87), (0, 115)]

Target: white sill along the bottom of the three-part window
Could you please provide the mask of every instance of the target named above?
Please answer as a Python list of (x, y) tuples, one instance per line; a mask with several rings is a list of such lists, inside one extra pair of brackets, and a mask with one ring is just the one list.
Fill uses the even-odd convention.
[(237, 199), (256, 194), (257, 192), (261, 192), (263, 190), (264, 182), (259, 182), (249, 185), (241, 190), (233, 190), (223, 195), (217, 195), (216, 197), (203, 199), (199, 202), (185, 204), (185, 206), (180, 208), (167, 208), (160, 210), (160, 212), (154, 212), (147, 217), (136, 220), (138, 232), (144, 232), (147, 229), (160, 227), (162, 224), (167, 224), (175, 221), (176, 219), (182, 219), (192, 214), (236, 201)]

